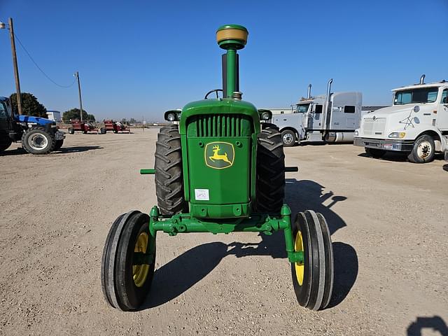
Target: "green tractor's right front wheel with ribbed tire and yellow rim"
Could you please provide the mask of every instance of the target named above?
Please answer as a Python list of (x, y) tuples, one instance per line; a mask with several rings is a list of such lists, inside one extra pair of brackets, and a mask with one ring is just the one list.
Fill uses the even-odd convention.
[(295, 251), (302, 251), (303, 262), (291, 263), (297, 302), (313, 310), (330, 302), (334, 260), (330, 230), (321, 214), (307, 210), (297, 214), (293, 225)]

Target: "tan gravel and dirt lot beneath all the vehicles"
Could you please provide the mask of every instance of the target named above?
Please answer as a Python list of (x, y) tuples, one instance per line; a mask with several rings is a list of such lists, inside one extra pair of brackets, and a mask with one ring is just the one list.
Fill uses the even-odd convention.
[(153, 176), (139, 175), (156, 134), (68, 135), (62, 152), (0, 157), (1, 335), (448, 335), (444, 162), (351, 145), (286, 148), (300, 166), (286, 202), (332, 232), (330, 308), (297, 304), (283, 237), (257, 234), (159, 235), (144, 309), (109, 307), (104, 240), (119, 214), (156, 203)]

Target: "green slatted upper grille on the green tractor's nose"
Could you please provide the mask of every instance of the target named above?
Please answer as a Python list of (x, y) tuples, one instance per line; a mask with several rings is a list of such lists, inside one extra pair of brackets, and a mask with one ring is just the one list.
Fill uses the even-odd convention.
[(249, 137), (251, 118), (239, 114), (209, 114), (188, 119), (189, 137)]

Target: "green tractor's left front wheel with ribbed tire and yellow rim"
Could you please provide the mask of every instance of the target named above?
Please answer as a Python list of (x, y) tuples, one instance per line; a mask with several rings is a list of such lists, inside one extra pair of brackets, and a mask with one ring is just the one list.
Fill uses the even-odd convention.
[(102, 255), (101, 282), (106, 301), (123, 311), (138, 309), (153, 281), (155, 237), (149, 216), (130, 211), (112, 224)]

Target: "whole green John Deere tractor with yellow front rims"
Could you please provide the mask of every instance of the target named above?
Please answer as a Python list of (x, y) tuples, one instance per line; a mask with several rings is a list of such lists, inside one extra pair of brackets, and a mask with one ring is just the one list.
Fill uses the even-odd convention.
[[(102, 290), (117, 309), (137, 310), (148, 297), (159, 231), (176, 236), (283, 230), (297, 301), (314, 310), (330, 302), (333, 255), (325, 218), (304, 211), (291, 221), (283, 204), (285, 172), (297, 167), (285, 167), (279, 130), (260, 123), (270, 113), (241, 100), (237, 50), (247, 36), (240, 25), (218, 29), (218, 45), (227, 50), (223, 90), (165, 114), (179, 125), (160, 129), (155, 169), (141, 169), (141, 174), (155, 174), (158, 206), (149, 214), (130, 211), (111, 226), (102, 256)], [(208, 99), (212, 92), (216, 99)]]

